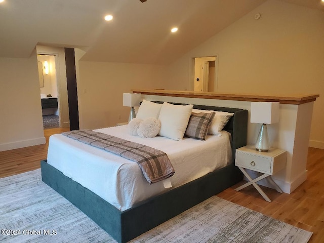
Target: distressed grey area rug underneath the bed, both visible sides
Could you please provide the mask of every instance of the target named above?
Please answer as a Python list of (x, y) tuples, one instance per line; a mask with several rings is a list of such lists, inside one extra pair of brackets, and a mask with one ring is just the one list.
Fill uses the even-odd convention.
[[(40, 169), (0, 179), (0, 212), (0, 242), (116, 242), (43, 183)], [(130, 242), (307, 242), (311, 235), (213, 196)]]

